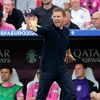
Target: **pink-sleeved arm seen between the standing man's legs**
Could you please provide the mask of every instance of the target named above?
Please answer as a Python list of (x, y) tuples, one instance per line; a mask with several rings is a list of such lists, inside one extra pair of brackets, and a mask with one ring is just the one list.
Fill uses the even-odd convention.
[(58, 93), (59, 93), (58, 85), (56, 83), (53, 83), (53, 85), (49, 90), (50, 96), (48, 95), (46, 100), (58, 100), (58, 96), (59, 96)]

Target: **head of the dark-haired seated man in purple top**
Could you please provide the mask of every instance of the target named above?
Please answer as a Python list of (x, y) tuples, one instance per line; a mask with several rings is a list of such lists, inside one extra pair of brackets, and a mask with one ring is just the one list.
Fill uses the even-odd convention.
[(74, 63), (74, 68), (75, 68), (75, 75), (78, 79), (84, 79), (85, 78), (85, 72), (87, 69), (87, 65), (80, 60), (77, 60)]

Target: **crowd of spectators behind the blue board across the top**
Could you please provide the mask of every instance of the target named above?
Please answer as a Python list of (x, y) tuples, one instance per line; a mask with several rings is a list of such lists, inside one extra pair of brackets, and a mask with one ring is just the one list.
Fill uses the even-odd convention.
[(99, 0), (0, 0), (0, 30), (25, 30), (27, 22), (36, 18), (39, 26), (50, 24), (55, 7), (66, 11), (69, 29), (100, 29)]

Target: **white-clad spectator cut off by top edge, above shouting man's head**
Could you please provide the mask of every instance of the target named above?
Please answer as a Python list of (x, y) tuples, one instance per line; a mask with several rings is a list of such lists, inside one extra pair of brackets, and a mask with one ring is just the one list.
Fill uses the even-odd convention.
[(52, 3), (61, 8), (70, 8), (70, 0), (52, 0)]

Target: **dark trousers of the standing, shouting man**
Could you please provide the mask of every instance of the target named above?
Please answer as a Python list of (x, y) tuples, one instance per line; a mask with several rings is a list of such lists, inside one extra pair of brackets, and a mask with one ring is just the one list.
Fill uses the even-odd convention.
[(60, 100), (76, 100), (74, 84), (67, 71), (58, 75), (41, 72), (40, 75), (40, 84), (36, 100), (46, 100), (49, 89), (54, 81), (57, 81), (63, 91), (63, 94), (60, 96)]

